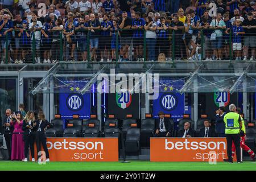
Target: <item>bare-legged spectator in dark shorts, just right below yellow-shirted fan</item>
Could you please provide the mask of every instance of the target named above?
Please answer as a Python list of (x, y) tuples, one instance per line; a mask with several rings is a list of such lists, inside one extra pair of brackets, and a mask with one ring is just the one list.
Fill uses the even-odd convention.
[[(193, 55), (195, 55), (195, 52), (196, 52), (196, 44), (195, 44), (195, 42), (193, 42), (192, 36), (193, 36), (193, 29), (196, 29), (197, 25), (195, 26), (195, 24), (193, 22), (191, 22), (191, 15), (188, 14), (186, 17), (185, 23), (184, 23), (184, 27), (185, 27), (184, 43), (185, 43), (185, 47), (186, 47), (188, 60), (192, 60), (192, 57), (193, 57)], [(191, 53), (189, 54), (188, 50), (191, 46), (193, 48), (192, 48)]]

